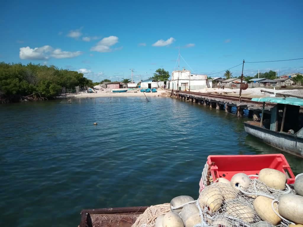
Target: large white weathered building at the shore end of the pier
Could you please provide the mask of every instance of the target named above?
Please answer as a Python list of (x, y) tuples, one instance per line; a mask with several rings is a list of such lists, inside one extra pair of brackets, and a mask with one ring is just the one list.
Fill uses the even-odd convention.
[[(178, 80), (179, 79), (179, 80)], [(175, 70), (171, 73), (171, 81), (167, 82), (166, 87), (174, 90), (195, 90), (206, 88), (207, 75), (191, 74), (189, 70)], [(211, 80), (209, 81), (212, 87)]]

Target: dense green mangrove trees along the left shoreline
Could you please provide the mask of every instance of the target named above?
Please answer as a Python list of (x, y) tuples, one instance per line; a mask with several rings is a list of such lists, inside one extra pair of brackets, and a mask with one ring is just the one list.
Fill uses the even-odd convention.
[[(76, 86), (93, 86), (93, 82), (82, 73), (59, 69), (58, 67), (32, 64), (23, 65), (0, 62), (0, 95), (29, 96), (37, 93), (52, 99), (62, 87), (75, 89)], [(38, 95), (38, 94), (37, 94)], [(39, 97), (39, 95), (38, 95)]]

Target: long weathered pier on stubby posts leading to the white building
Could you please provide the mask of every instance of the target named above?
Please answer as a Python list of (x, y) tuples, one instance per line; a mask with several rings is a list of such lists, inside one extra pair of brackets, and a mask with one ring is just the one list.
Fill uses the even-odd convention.
[[(237, 115), (239, 117), (244, 115), (244, 110), (248, 110), (248, 116), (255, 121), (260, 120), (260, 113), (262, 112), (262, 104), (259, 102), (251, 101), (248, 98), (242, 98), (241, 102), (238, 101), (238, 97), (225, 96), (219, 94), (197, 93), (188, 91), (171, 91), (173, 98), (179, 98), (188, 102), (198, 103), (209, 108), (215, 108), (217, 110), (225, 110), (231, 112), (232, 107), (237, 108)], [(275, 104), (266, 104), (264, 113), (271, 114), (271, 109), (275, 107)]]

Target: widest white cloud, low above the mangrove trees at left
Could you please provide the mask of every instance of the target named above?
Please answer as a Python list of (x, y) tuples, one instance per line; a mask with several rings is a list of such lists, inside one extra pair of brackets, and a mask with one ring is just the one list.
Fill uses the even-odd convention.
[(48, 60), (49, 58), (74, 58), (82, 54), (81, 51), (62, 51), (60, 48), (53, 49), (51, 46), (45, 45), (43, 47), (36, 47), (34, 49), (30, 47), (20, 48), (20, 59), (31, 60)]

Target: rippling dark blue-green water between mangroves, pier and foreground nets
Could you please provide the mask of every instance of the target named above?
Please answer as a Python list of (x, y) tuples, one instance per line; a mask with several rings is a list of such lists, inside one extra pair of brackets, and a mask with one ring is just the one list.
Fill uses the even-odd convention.
[(196, 198), (208, 155), (280, 153), (245, 120), (161, 97), (1, 105), (0, 223), (77, 226), (82, 209)]

